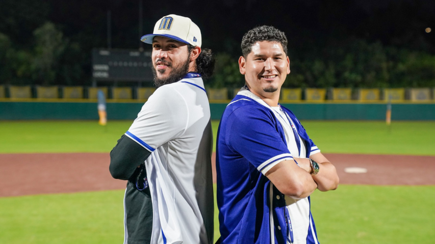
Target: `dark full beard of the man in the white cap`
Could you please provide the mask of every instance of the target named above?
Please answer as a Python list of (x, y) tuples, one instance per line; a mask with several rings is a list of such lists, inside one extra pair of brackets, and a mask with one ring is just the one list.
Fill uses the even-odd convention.
[[(168, 67), (172, 67), (172, 63), (166, 62), (166, 60), (164, 59), (157, 59), (156, 64), (157, 62), (161, 62), (162, 64)], [(163, 74), (165, 72), (168, 72), (167, 70), (156, 71), (156, 68), (154, 66), (152, 66), (151, 70), (152, 70), (152, 74), (154, 75), (154, 85), (156, 87), (177, 82), (183, 79), (183, 77), (187, 74), (187, 72), (189, 72), (189, 57), (184, 64), (181, 64), (178, 67), (172, 67), (171, 73), (169, 73), (169, 75), (166, 78), (158, 78), (157, 72)]]

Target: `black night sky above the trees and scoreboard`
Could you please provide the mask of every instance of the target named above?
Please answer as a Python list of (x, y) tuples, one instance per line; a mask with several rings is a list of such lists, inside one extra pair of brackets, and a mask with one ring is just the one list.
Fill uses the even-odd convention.
[[(146, 1), (139, 33), (139, 0), (30, 1), (2, 0), (0, 32), (26, 48), (32, 32), (54, 22), (84, 50), (107, 47), (107, 12), (112, 17), (112, 47), (139, 48), (140, 36), (152, 32), (167, 14), (190, 17), (201, 29), (203, 47), (240, 52), (243, 34), (256, 25), (274, 25), (289, 39), (289, 50), (334, 45), (348, 38), (435, 53), (435, 1)], [(434, 30), (435, 31), (435, 30)], [(146, 46), (145, 46), (146, 48)]]

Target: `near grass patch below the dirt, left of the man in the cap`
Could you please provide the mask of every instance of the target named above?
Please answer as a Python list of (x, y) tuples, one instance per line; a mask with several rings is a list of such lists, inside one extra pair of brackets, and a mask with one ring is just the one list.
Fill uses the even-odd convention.
[(123, 194), (0, 198), (0, 243), (122, 243)]

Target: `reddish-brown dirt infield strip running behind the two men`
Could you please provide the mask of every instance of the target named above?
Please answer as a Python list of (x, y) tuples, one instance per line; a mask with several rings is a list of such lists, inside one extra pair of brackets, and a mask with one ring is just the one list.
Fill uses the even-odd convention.
[[(340, 184), (435, 185), (435, 157), (325, 156), (337, 167)], [(125, 181), (111, 177), (109, 162), (108, 153), (0, 154), (0, 197), (124, 189)], [(347, 167), (365, 168), (367, 173), (346, 173)]]

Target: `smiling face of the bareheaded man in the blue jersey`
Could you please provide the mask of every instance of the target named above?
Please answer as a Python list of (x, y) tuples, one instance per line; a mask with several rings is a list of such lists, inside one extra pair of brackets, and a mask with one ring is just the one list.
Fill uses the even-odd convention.
[(262, 99), (276, 99), (276, 102), (290, 74), (289, 65), (289, 57), (278, 42), (256, 42), (246, 58), (239, 58), (240, 73), (245, 75), (249, 90)]

